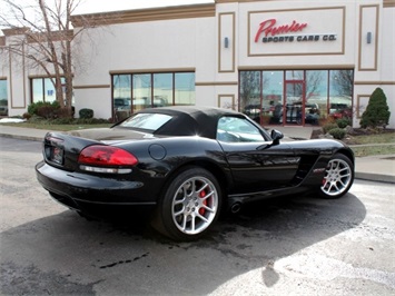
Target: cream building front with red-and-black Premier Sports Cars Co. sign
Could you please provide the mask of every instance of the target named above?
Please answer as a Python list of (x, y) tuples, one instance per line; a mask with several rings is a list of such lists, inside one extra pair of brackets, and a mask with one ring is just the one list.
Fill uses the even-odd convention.
[[(264, 125), (359, 126), (381, 87), (395, 128), (395, 1), (216, 0), (73, 16), (76, 115), (119, 120), (142, 108), (233, 108)], [(1, 47), (20, 33), (0, 37)], [(0, 51), (10, 116), (53, 100), (45, 75)], [(18, 69), (16, 69), (18, 68)]]

